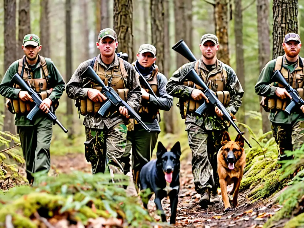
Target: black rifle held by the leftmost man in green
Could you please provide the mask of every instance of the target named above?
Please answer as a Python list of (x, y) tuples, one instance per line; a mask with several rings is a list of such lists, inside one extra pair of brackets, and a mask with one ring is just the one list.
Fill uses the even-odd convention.
[[(36, 113), (40, 110), (39, 106), (42, 102), (42, 99), (31, 87), (29, 87), (29, 85), (26, 84), (26, 82), (20, 77), (19, 74), (15, 74), (12, 77), (11, 84), (17, 84), (20, 86), (22, 90), (27, 91), (29, 95), (31, 95), (31, 97), (33, 98), (33, 101), (36, 103), (35, 107), (26, 116), (27, 119), (32, 120), (33, 117), (36, 115)], [(67, 129), (65, 129), (64, 126), (59, 122), (55, 114), (51, 112), (49, 109), (47, 110), (49, 112), (46, 113), (46, 115), (53, 121), (53, 124), (55, 125), (55, 123), (57, 123), (57, 125), (60, 126), (60, 128), (64, 131), (64, 133), (67, 133)]]

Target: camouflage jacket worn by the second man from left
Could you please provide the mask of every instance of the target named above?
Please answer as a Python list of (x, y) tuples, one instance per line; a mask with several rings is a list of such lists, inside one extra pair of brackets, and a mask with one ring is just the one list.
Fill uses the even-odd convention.
[[(67, 83), (66, 92), (67, 96), (71, 99), (85, 99), (87, 98), (87, 93), (90, 88), (84, 88), (84, 78), (81, 77), (81, 74), (85, 71), (85, 69), (91, 64), (93, 59), (86, 60), (81, 63), (74, 74), (72, 75), (70, 81)], [(111, 70), (112, 67), (119, 65), (119, 60), (117, 54), (115, 54), (115, 58), (113, 62), (107, 67), (101, 60), (100, 54), (97, 56), (97, 61), (101, 64), (106, 71)], [(128, 74), (128, 78), (125, 81), (126, 88), (129, 89), (127, 103), (131, 106), (135, 111), (138, 110), (141, 102), (141, 92), (140, 92), (140, 83), (136, 76), (136, 72), (131, 64), (126, 61), (124, 62), (125, 70)], [(108, 129), (119, 122), (128, 123), (128, 120), (122, 117), (118, 112), (109, 117), (102, 118), (99, 114), (95, 114), (94, 116), (87, 114), (84, 118), (83, 125), (89, 128), (94, 129), (104, 129), (107, 127)]]

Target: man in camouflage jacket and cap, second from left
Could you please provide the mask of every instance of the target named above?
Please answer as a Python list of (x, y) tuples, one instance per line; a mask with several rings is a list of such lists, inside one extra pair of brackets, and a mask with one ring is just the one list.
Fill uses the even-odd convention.
[(85, 116), (85, 156), (92, 164), (93, 174), (105, 172), (108, 165), (123, 172), (120, 158), (126, 148), (128, 111), (120, 107), (119, 111), (113, 109), (102, 118), (97, 112), (106, 97), (100, 92), (101, 88), (82, 73), (88, 66), (93, 66), (105, 85), (111, 86), (119, 95), (126, 95), (123, 99), (135, 111), (141, 102), (140, 83), (131, 64), (115, 53), (118, 42), (114, 30), (101, 30), (96, 45), (100, 54), (78, 66), (67, 83), (66, 92), (69, 98), (80, 99), (80, 112)]

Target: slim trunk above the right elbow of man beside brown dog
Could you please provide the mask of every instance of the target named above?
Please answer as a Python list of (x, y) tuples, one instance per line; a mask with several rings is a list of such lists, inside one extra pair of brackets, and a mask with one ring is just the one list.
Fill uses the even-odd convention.
[[(234, 36), (236, 74), (245, 91), (242, 0), (234, 0)], [(238, 111), (238, 122), (245, 123), (245, 96), (243, 96), (242, 103), (243, 105), (240, 106)]]

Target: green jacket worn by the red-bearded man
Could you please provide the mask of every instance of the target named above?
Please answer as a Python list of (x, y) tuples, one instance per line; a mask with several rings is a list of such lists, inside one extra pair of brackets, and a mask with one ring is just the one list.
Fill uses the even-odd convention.
[[(257, 84), (255, 85), (254, 89), (257, 95), (268, 97), (268, 98), (275, 98), (275, 90), (277, 89), (276, 86), (272, 86), (271, 84), (271, 77), (274, 74), (275, 69), (275, 62), (277, 59), (269, 61), (266, 66), (261, 71), (259, 78), (257, 79)], [(303, 60), (300, 57), (299, 59), (299, 66), (303, 67)], [(289, 74), (293, 73), (293, 71), (298, 67), (298, 64), (289, 65), (286, 62), (285, 55), (283, 57), (283, 65), (286, 70), (288, 70)], [(286, 123), (291, 124), (294, 123), (296, 120), (304, 120), (304, 115), (302, 112), (299, 112), (299, 109), (294, 108), (293, 112), (288, 115), (284, 111), (272, 109), (269, 112), (268, 119), (273, 123)]]

